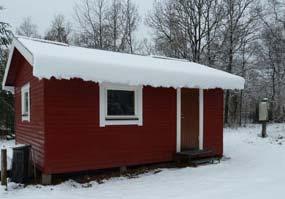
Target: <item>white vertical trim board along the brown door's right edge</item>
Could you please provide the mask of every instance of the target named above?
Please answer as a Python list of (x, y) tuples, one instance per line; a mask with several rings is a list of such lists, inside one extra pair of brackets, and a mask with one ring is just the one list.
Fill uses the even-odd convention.
[(203, 150), (204, 144), (204, 91), (199, 89), (199, 149)]

